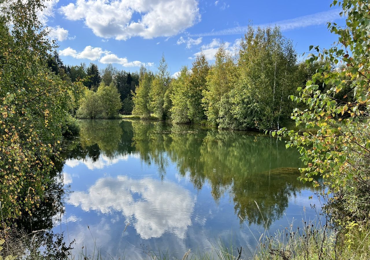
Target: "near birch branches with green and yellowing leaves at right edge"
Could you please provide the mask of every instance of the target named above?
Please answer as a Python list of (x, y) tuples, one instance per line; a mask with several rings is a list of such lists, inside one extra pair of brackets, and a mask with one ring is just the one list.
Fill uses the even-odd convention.
[[(333, 6), (338, 4), (333, 1)], [(363, 2), (340, 2), (346, 26), (328, 23), (338, 41), (329, 49), (313, 47), (307, 64), (321, 60), (319, 68), (305, 88), (292, 101), (304, 104), (292, 118), (301, 128), (319, 127), (319, 131), (295, 132), (283, 128), (277, 134), (290, 136), (287, 146), (295, 146), (302, 155), (306, 173), (303, 181), (321, 175), (334, 192), (332, 203), (337, 216), (349, 215), (361, 220), (369, 213), (370, 188), (370, 13)], [(337, 67), (335, 64), (343, 64)], [(327, 87), (322, 88), (318, 84)], [(347, 96), (351, 95), (352, 98)], [(314, 185), (319, 183), (314, 181)]]

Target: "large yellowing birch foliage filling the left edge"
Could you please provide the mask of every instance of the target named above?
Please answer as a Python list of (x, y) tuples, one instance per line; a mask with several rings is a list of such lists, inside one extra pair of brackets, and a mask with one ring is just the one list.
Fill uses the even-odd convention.
[(61, 129), (83, 88), (47, 67), (52, 44), (37, 19), (41, 1), (11, 1), (1, 8), (0, 202), (10, 224), (46, 200)]

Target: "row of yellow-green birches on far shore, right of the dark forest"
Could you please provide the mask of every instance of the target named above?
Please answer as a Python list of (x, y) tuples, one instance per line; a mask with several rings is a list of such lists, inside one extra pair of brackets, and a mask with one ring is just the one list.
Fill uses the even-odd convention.
[(277, 129), (294, 108), (288, 96), (320, 65), (298, 63), (292, 41), (279, 27), (249, 26), (238, 50), (232, 53), (222, 44), (214, 64), (201, 53), (177, 78), (169, 77), (164, 57), (156, 73), (142, 68), (132, 113), (219, 128)]

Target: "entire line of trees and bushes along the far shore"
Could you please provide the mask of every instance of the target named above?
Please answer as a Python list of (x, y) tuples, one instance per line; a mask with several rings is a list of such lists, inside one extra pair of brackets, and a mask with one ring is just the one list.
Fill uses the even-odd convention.
[[(79, 118), (115, 118), (118, 113), (174, 123), (212, 124), (229, 129), (279, 129), (295, 108), (289, 95), (304, 86), (323, 63), (299, 63), (291, 40), (279, 27), (248, 27), (238, 49), (221, 44), (210, 64), (201, 52), (192, 67), (170, 76), (164, 55), (156, 72), (102, 70), (91, 63), (65, 66), (57, 53), (49, 67), (87, 90), (75, 111)], [(323, 83), (323, 82), (322, 82)], [(324, 88), (324, 84), (322, 84)], [(101, 90), (100, 90), (101, 89)]]

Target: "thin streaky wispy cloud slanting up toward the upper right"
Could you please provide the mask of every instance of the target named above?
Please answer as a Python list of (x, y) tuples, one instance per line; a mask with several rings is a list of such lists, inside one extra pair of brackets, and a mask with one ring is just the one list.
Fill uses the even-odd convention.
[[(337, 10), (330, 10), (325, 12), (320, 12), (316, 14), (310, 14), (307, 16), (300, 16), (293, 19), (281, 20), (276, 21), (273, 23), (268, 24), (258, 24), (256, 26), (266, 27), (266, 26), (274, 26), (275, 24), (280, 27), (282, 31), (293, 30), (297, 28), (304, 28), (308, 26), (314, 25), (322, 25), (325, 24), (327, 21), (334, 21), (340, 18), (339, 13)], [(228, 28), (221, 31), (211, 31), (209, 33), (199, 33), (193, 34), (191, 36), (200, 37), (200, 36), (220, 36), (220, 35), (232, 35), (232, 34), (243, 34), (248, 29), (247, 26), (237, 26), (233, 28)]]

